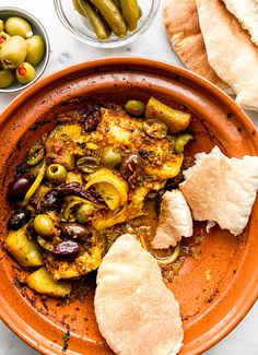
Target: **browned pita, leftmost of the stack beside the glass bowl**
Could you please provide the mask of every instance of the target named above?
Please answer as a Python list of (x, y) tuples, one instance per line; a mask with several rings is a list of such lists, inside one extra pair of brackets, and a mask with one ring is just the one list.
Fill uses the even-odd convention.
[(196, 0), (165, 0), (164, 20), (168, 39), (186, 67), (234, 94), (208, 62)]

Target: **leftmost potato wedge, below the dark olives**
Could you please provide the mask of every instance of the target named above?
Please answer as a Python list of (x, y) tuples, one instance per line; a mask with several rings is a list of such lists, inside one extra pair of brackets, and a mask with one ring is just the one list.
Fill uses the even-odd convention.
[(26, 235), (26, 227), (27, 225), (17, 230), (10, 230), (5, 239), (5, 247), (21, 267), (42, 267), (42, 255), (37, 244)]

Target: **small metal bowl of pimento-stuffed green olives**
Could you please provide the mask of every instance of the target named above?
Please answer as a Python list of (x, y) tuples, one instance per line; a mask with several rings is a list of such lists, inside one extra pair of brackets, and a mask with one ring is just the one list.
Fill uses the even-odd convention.
[(32, 85), (49, 60), (49, 39), (42, 23), (27, 11), (0, 8), (0, 93)]

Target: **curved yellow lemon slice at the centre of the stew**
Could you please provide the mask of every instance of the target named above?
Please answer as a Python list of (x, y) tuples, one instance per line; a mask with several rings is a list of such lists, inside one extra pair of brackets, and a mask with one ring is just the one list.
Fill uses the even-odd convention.
[(94, 186), (112, 211), (127, 203), (128, 184), (117, 176), (114, 170), (102, 168), (91, 174), (87, 180), (85, 189), (87, 190)]

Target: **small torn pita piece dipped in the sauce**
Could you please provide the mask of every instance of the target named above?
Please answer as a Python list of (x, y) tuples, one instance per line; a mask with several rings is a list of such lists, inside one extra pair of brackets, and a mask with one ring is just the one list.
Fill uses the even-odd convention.
[(181, 237), (192, 236), (190, 209), (179, 190), (166, 191), (162, 198), (160, 221), (152, 246), (155, 249), (175, 247)]

